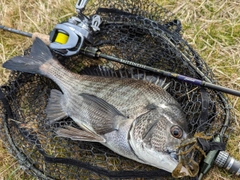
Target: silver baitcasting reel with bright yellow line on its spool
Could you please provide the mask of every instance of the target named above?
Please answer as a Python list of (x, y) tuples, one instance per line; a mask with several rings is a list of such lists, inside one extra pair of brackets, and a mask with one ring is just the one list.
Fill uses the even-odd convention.
[(87, 0), (78, 0), (76, 11), (78, 16), (71, 17), (68, 22), (57, 24), (50, 33), (50, 48), (63, 56), (73, 56), (80, 53), (85, 41), (92, 43), (93, 32), (99, 31), (101, 17), (97, 14), (85, 16)]

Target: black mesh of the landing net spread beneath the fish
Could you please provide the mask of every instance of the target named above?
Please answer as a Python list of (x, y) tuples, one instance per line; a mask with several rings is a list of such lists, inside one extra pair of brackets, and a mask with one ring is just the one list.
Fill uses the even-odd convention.
[[(101, 30), (94, 34), (91, 45), (102, 53), (215, 82), (207, 64), (182, 39), (180, 21), (164, 8), (145, 0), (103, 0), (91, 4), (84, 11), (87, 12), (102, 17)], [(131, 76), (128, 73), (130, 67), (119, 63), (84, 55), (56, 56), (76, 73)], [(84, 69), (96, 64), (104, 68)], [(134, 70), (136, 76), (141, 72)], [(226, 143), (229, 134), (226, 130), (233, 122), (233, 115), (222, 93), (151, 72), (144, 73), (159, 78), (161, 86), (168, 86), (167, 91), (180, 103), (187, 116), (192, 135), (197, 131), (211, 136), (221, 134)], [(58, 87), (45, 77), (18, 72), (12, 72), (9, 81), (1, 86), (1, 96), (5, 98), (0, 102), (0, 137), (26, 171), (42, 179), (157, 179), (170, 175), (119, 156), (98, 143), (56, 138), (56, 127), (75, 124), (68, 118), (46, 125), (44, 110), (53, 88)]]

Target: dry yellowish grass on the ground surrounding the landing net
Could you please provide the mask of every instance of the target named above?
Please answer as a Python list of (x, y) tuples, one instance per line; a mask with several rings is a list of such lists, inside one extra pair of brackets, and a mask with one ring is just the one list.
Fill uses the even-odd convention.
[[(0, 24), (27, 32), (48, 33), (56, 23), (74, 14), (75, 0), (0, 0)], [(240, 90), (240, 2), (239, 0), (158, 0), (160, 5), (176, 13), (182, 21), (184, 38), (213, 69), (220, 84)], [(0, 32), (0, 64), (20, 55), (31, 40), (8, 32)], [(0, 68), (0, 84), (8, 71)], [(240, 101), (231, 96), (237, 119)], [(240, 128), (230, 138), (228, 151), (240, 159)], [(16, 160), (0, 141), (0, 179), (23, 179)], [(233, 179), (214, 168), (205, 179)]]

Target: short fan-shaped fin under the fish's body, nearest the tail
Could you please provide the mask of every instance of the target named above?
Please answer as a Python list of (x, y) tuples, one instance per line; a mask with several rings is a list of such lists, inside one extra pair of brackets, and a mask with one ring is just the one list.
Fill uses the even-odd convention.
[(67, 117), (67, 114), (62, 109), (62, 92), (57, 89), (52, 89), (48, 104), (45, 109), (47, 113), (47, 119), (50, 124), (60, 119)]

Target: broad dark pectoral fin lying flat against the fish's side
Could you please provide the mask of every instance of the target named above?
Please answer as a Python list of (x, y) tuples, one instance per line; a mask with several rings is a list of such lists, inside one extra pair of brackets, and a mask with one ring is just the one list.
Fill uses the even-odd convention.
[(88, 115), (92, 127), (98, 134), (117, 130), (126, 117), (113, 105), (97, 96), (82, 93), (84, 103), (88, 104)]

